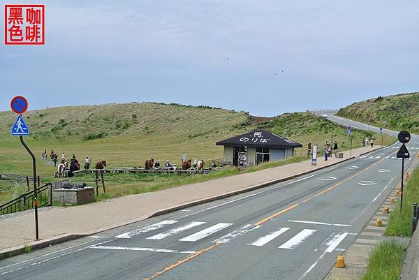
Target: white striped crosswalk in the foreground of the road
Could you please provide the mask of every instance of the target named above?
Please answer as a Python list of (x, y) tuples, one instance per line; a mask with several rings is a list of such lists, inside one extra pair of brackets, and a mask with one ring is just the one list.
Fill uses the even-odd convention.
[[(179, 223), (179, 226), (175, 226), (175, 224)], [(322, 224), (323, 223), (319, 223)], [(326, 223), (324, 223), (326, 224)], [(332, 225), (332, 224), (330, 224)], [(174, 228), (170, 228), (169, 230), (164, 230), (165, 227), (175, 226)], [(205, 226), (204, 229), (201, 229)], [(314, 225), (312, 225), (314, 226)], [(346, 226), (346, 225), (345, 225)], [(233, 223), (215, 223), (210, 224), (205, 221), (191, 221), (189, 223), (180, 224), (179, 221), (175, 220), (167, 220), (167, 221), (160, 221), (159, 223), (154, 223), (149, 226), (145, 226), (142, 228), (138, 228), (135, 230), (128, 231), (126, 233), (122, 233), (120, 235), (116, 235), (115, 237), (118, 239), (129, 239), (135, 237), (137, 235), (143, 235), (145, 233), (152, 232), (154, 230), (163, 229), (163, 232), (156, 233), (155, 235), (145, 237), (145, 240), (149, 241), (158, 241), (158, 240), (165, 240), (169, 237), (176, 237), (178, 242), (197, 242), (198, 240), (204, 240), (205, 238), (212, 237), (212, 235), (216, 235), (216, 233), (221, 232), (227, 228), (234, 228), (233, 231), (230, 233), (223, 235), (215, 240), (208, 240), (212, 243), (227, 243), (231, 240), (239, 237), (240, 235), (244, 235), (245, 233), (250, 233), (251, 231), (256, 231), (255, 234), (251, 235), (251, 237), (255, 237), (252, 242), (247, 242), (247, 246), (255, 246), (255, 247), (262, 247), (267, 244), (275, 244), (278, 246), (278, 249), (284, 250), (295, 250), (306, 244), (312, 237), (316, 236), (318, 240), (323, 240), (323, 242), (318, 242), (316, 247), (313, 248), (314, 251), (324, 251), (331, 253), (337, 249), (337, 246), (341, 244), (341, 242), (350, 234), (347, 232), (333, 232), (332, 234), (327, 233), (325, 234), (324, 231), (319, 232), (319, 230), (313, 228), (290, 228), (290, 227), (281, 227), (273, 230), (270, 233), (264, 232), (263, 235), (262, 230), (257, 231), (262, 226), (254, 226), (253, 224), (247, 224), (240, 228), (234, 226)], [(192, 234), (187, 234), (186, 232), (191, 233), (191, 230), (198, 231)], [(287, 233), (287, 235), (285, 235)], [(330, 235), (329, 235), (330, 234)], [(183, 235), (183, 236), (179, 236)], [(185, 236), (186, 235), (186, 236)], [(257, 236), (260, 235), (260, 236)], [(292, 235), (292, 236), (291, 236)], [(324, 235), (324, 236), (323, 236)], [(351, 234), (353, 235), (353, 234)], [(320, 237), (319, 237), (320, 236)], [(213, 237), (214, 238), (214, 237)], [(274, 242), (275, 240), (275, 242)], [(132, 251), (153, 251), (153, 252), (163, 252), (163, 253), (187, 253), (189, 251), (176, 251), (176, 250), (168, 250), (168, 249), (156, 249), (156, 248), (126, 248), (122, 246), (95, 246), (94, 249), (113, 249), (113, 250), (132, 250)]]

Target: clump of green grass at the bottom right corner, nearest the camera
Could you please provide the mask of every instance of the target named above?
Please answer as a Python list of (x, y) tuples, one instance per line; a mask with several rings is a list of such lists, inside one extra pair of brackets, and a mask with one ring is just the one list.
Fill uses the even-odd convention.
[(406, 247), (399, 242), (381, 242), (369, 256), (362, 280), (398, 280)]

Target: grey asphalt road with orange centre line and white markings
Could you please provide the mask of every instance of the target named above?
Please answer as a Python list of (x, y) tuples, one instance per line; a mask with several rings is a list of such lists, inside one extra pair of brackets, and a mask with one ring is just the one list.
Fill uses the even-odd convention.
[(399, 146), (1, 260), (0, 279), (323, 279), (401, 177)]

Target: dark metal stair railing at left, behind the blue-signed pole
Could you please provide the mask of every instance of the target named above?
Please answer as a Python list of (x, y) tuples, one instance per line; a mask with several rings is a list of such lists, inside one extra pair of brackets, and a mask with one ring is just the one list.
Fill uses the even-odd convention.
[[(37, 189), (38, 207), (52, 205), (52, 184), (45, 184)], [(0, 205), (0, 214), (10, 214), (34, 208), (34, 191), (28, 191), (18, 198)]]

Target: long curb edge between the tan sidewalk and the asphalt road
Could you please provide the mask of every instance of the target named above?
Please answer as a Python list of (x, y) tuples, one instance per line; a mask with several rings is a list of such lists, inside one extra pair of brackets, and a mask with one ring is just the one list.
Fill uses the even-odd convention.
[[(385, 147), (381, 147), (381, 148), (378, 148), (378, 149), (374, 149), (372, 151), (367, 151), (367, 152), (362, 153), (358, 156), (369, 154), (371, 152), (376, 152), (376, 151), (379, 151), (379, 150), (384, 149), (384, 148)], [(318, 167), (318, 168), (314, 168), (312, 170), (307, 170), (307, 171), (304, 171), (304, 172), (300, 172), (300, 173), (297, 173), (295, 175), (291, 175), (291, 176), (287, 176), (287, 177), (283, 177), (283, 178), (279, 178), (279, 179), (274, 179), (274, 180), (271, 180), (271, 181), (268, 181), (268, 182), (265, 182), (265, 183), (262, 183), (262, 184), (256, 184), (254, 186), (249, 186), (245, 189), (240, 189), (240, 190), (237, 190), (237, 191), (230, 191), (228, 193), (222, 193), (221, 195), (211, 196), (210, 198), (193, 200), (191, 202), (186, 202), (186, 203), (183, 203), (183, 204), (180, 204), (180, 205), (175, 205), (175, 206), (172, 206), (172, 207), (161, 209), (161, 210), (158, 210), (156, 212), (150, 212), (150, 213), (147, 213), (147, 214), (144, 214), (144, 215), (138, 217), (138, 219), (133, 219), (131, 221), (124, 221), (122, 223), (115, 223), (115, 224), (112, 224), (110, 226), (105, 226), (103, 228), (97, 228), (97, 229), (94, 229), (94, 230), (89, 230), (89, 231), (84, 232), (84, 233), (69, 233), (69, 234), (64, 234), (64, 235), (57, 235), (57, 236), (54, 236), (54, 237), (49, 237), (45, 240), (38, 240), (36, 242), (31, 242), (31, 243), (27, 244), (26, 246), (20, 245), (20, 246), (11, 247), (9, 249), (3, 249), (3, 250), (0, 251), (0, 260), (2, 260), (4, 258), (9, 258), (11, 256), (16, 256), (20, 253), (24, 253), (25, 249), (28, 248), (28, 247), (30, 248), (30, 251), (33, 251), (34, 249), (42, 249), (42, 248), (45, 248), (47, 246), (51, 246), (51, 245), (54, 245), (54, 244), (59, 244), (59, 243), (62, 243), (62, 242), (75, 240), (75, 239), (78, 239), (80, 237), (85, 237), (85, 236), (88, 236), (88, 235), (94, 235), (94, 234), (97, 234), (97, 233), (101, 233), (105, 230), (112, 230), (113, 228), (118, 228), (120, 226), (127, 226), (131, 223), (137, 223), (138, 221), (144, 221), (145, 219), (149, 219), (149, 218), (154, 217), (154, 216), (161, 216), (163, 214), (168, 214), (170, 212), (175, 212), (177, 210), (184, 209), (184, 208), (187, 208), (187, 207), (192, 207), (192, 206), (200, 205), (200, 204), (203, 204), (203, 203), (212, 202), (214, 200), (221, 200), (223, 198), (228, 198), (230, 196), (235, 196), (235, 195), (240, 194), (240, 193), (247, 193), (249, 191), (254, 191), (256, 189), (262, 189), (262, 188), (265, 188), (266, 186), (272, 186), (273, 184), (284, 182), (284, 181), (287, 181), (289, 179), (294, 179), (296, 177), (307, 175), (307, 174), (310, 174), (312, 172), (316, 172), (318, 170), (322, 170), (322, 169), (325, 169), (325, 168), (330, 168), (334, 165), (338, 165), (340, 163), (350, 161), (351, 159), (355, 159), (355, 156), (350, 156), (350, 157), (348, 157), (348, 159), (344, 159), (344, 160), (338, 161), (336, 163), (330, 163), (328, 165), (324, 165), (324, 166), (321, 166), (321, 167)]]

